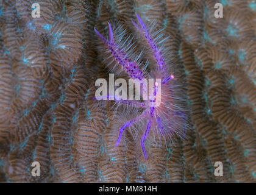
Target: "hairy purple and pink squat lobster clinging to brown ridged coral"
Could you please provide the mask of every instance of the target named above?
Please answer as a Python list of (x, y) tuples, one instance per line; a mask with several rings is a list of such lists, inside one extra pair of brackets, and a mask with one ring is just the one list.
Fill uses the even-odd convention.
[[(140, 23), (140, 26), (138, 26), (133, 21), (132, 23), (146, 40), (149, 50), (152, 52), (152, 55), (154, 55), (154, 60), (157, 65), (154, 74), (152, 74), (151, 76), (154, 77), (154, 79), (160, 78), (162, 82), (154, 83), (154, 88), (151, 89), (153, 91), (151, 98), (149, 98), (148, 101), (144, 101), (143, 103), (130, 100), (120, 101), (118, 99), (115, 99), (116, 102), (121, 104), (126, 104), (137, 108), (144, 108), (144, 111), (141, 113), (141, 115), (133, 119), (130, 119), (130, 121), (127, 121), (123, 126), (120, 127), (115, 147), (118, 146), (122, 134), (127, 127), (132, 126), (132, 124), (135, 124), (136, 122), (141, 121), (142, 119), (146, 119), (146, 129), (144, 130), (143, 135), (141, 137), (140, 145), (144, 154), (144, 158), (147, 158), (146, 150), (144, 147), (144, 141), (148, 137), (150, 130), (154, 130), (158, 136), (167, 135), (167, 137), (171, 138), (172, 135), (176, 133), (181, 138), (183, 138), (185, 132), (186, 118), (182, 109), (174, 104), (177, 98), (174, 98), (174, 95), (171, 90), (172, 87), (170, 87), (170, 82), (175, 80), (174, 74), (169, 73), (169, 68), (166, 67), (165, 58), (163, 57), (163, 54), (160, 51), (161, 49), (158, 48), (156, 41), (154, 40), (154, 38), (152, 38), (151, 34), (149, 33), (149, 30), (146, 28), (143, 21), (141, 21), (138, 15), (137, 19), (138, 22)], [(131, 62), (127, 57), (126, 53), (122, 51), (119, 48), (119, 46), (115, 43), (113, 38), (112, 27), (109, 23), (108, 27), (110, 37), (109, 40), (106, 40), (95, 28), (94, 30), (98, 37), (103, 41), (105, 48), (108, 50), (108, 52), (110, 52), (115, 62), (124, 68), (124, 70), (131, 79), (140, 80), (140, 82), (142, 83), (143, 90), (145, 90), (146, 87), (145, 83), (143, 83), (143, 72), (140, 70), (137, 63)], [(156, 102), (159, 96), (161, 97), (161, 102), (159, 105), (157, 105)]]

